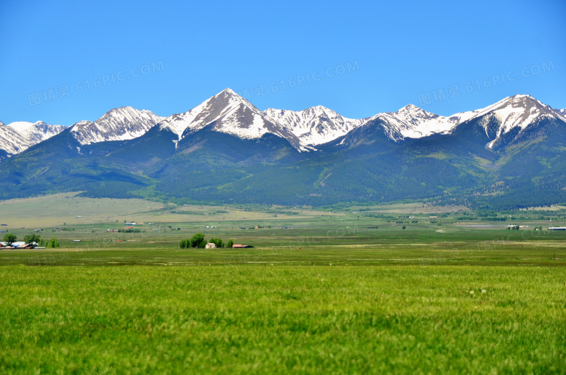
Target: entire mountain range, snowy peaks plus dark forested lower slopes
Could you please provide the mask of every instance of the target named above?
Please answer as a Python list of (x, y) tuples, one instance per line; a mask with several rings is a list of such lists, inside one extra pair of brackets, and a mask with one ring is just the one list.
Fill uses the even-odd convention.
[(409, 104), (356, 120), (323, 106), (261, 111), (226, 89), (169, 117), (126, 106), (69, 127), (0, 123), (0, 198), (566, 202), (565, 112), (515, 95), (449, 117)]

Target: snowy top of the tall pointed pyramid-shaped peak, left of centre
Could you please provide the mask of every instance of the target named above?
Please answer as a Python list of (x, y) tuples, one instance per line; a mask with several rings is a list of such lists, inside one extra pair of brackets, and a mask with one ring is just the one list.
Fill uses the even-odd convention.
[(257, 139), (265, 133), (271, 133), (285, 138), (294, 147), (299, 147), (300, 144), (293, 133), (269, 119), (229, 88), (188, 112), (173, 114), (160, 123), (161, 129), (173, 131), (179, 140), (208, 125), (211, 125), (210, 129), (213, 131), (235, 135), (238, 138)]

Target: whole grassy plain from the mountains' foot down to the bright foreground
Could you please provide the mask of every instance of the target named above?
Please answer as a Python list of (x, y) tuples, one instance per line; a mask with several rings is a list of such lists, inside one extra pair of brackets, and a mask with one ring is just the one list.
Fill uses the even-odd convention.
[[(0, 202), (2, 228), (61, 242), (0, 250), (0, 373), (566, 372), (566, 233), (540, 221), (161, 206)], [(155, 224), (106, 231), (124, 220)], [(178, 248), (197, 231), (255, 247)]]

